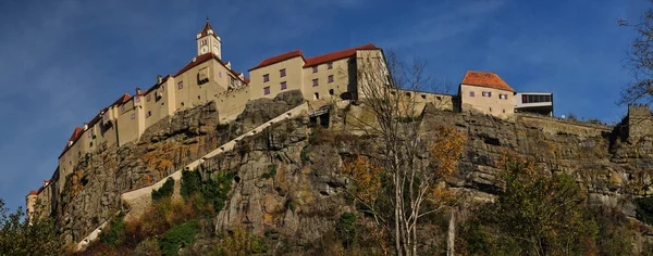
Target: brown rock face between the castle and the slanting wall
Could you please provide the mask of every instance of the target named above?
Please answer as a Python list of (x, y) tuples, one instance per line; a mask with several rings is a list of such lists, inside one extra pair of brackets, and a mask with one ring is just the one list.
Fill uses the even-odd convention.
[(260, 99), (232, 124), (214, 103), (181, 111), (148, 128), (137, 143), (88, 154), (66, 178), (53, 214), (67, 242), (78, 242), (121, 209), (120, 195), (150, 185), (250, 127), (303, 103), (298, 91)]

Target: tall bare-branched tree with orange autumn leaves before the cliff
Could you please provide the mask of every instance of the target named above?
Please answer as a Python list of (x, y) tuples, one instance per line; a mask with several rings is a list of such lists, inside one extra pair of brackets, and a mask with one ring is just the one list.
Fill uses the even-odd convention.
[(343, 165), (350, 177), (349, 193), (371, 215), (380, 238), (392, 239), (395, 254), (417, 255), (418, 225), (445, 210), (456, 199), (444, 179), (457, 166), (466, 137), (456, 128), (423, 127), (420, 88), (433, 80), (424, 64), (410, 65), (393, 53), (368, 52), (357, 60), (358, 100), (373, 118), (356, 118), (352, 126), (371, 138), (366, 155)]

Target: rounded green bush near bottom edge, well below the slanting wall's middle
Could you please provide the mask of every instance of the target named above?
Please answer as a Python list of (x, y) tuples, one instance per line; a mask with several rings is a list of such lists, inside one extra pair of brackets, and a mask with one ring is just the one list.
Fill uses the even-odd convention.
[(189, 220), (183, 225), (172, 227), (159, 239), (159, 247), (163, 255), (177, 255), (180, 246), (187, 246), (195, 243), (197, 238), (197, 219)]

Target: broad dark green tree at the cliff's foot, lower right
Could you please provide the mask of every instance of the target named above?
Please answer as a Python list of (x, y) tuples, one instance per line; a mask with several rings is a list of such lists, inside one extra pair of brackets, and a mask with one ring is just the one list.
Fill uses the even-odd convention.
[(591, 253), (597, 223), (572, 177), (545, 175), (531, 162), (507, 157), (505, 189), (476, 213), (466, 231), (472, 254)]

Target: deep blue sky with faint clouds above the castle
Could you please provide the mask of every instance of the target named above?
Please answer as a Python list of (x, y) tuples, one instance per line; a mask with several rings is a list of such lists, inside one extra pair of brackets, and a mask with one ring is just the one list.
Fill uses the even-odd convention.
[[(556, 115), (618, 120), (623, 59), (646, 0), (0, 1), (0, 199), (24, 205), (57, 168), (75, 126), (122, 93), (149, 88), (196, 53), (209, 16), (237, 71), (300, 49), (375, 43), (428, 63), (439, 80), (497, 73), (551, 91)], [(455, 91), (453, 91), (455, 93)]]

